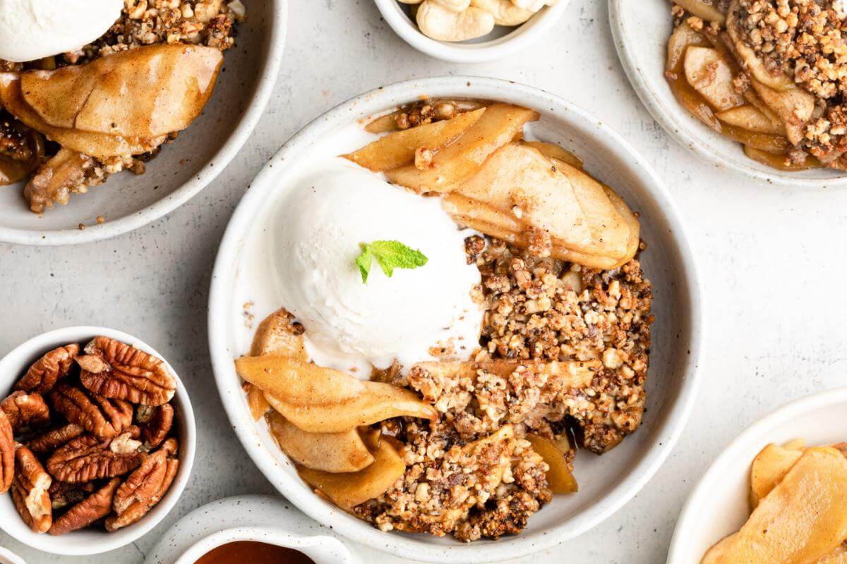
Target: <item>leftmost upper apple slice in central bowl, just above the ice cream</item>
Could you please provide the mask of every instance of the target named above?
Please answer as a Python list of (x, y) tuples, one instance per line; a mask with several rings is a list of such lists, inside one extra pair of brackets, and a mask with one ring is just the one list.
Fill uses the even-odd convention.
[(374, 172), (405, 167), (414, 162), (415, 151), (419, 147), (432, 151), (440, 149), (476, 123), (484, 111), (485, 108), (481, 107), (473, 112), (460, 113), (456, 118), (388, 134), (344, 157)]

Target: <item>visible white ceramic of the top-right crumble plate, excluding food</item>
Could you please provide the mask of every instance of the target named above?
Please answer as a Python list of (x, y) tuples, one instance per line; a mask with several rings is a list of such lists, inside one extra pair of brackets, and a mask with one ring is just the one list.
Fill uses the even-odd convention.
[(609, 0), (617, 54), (635, 92), (653, 118), (695, 155), (767, 183), (804, 188), (847, 186), (847, 175), (829, 169), (779, 171), (745, 156), (743, 146), (712, 131), (682, 107), (665, 80), (667, 38), (673, 18), (667, 0)]

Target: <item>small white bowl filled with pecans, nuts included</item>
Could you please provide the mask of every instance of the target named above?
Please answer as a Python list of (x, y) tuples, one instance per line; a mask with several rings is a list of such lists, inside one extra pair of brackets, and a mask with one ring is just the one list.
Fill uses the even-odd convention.
[(49, 331), (0, 359), (0, 528), (91, 555), (156, 526), (191, 474), (196, 430), (174, 369), (104, 327)]

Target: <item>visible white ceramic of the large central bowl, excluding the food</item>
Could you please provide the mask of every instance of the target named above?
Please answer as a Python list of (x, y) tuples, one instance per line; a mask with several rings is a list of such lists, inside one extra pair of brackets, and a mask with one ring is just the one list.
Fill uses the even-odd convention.
[[(616, 187), (641, 212), (643, 237), (650, 244), (642, 264), (654, 283), (656, 324), (642, 428), (602, 457), (581, 452), (576, 461), (579, 494), (556, 497), (530, 519), (523, 534), (496, 542), (462, 545), (449, 538), (383, 533), (315, 496), (274, 444), (266, 425), (252, 421), (233, 366), (233, 359), (247, 352), (253, 331), (244, 323), (243, 305), (250, 296), (241, 260), (253, 250), (249, 246), (252, 227), (261, 225), (257, 215), (272, 203), (279, 179), (318, 140), (331, 144), (333, 134), (346, 125), (424, 94), (507, 101), (539, 110), (540, 122), (530, 124), (529, 133), (575, 151), (590, 172)], [(558, 96), (505, 80), (468, 76), (412, 80), (372, 90), (335, 107), (286, 143), (253, 181), (227, 227), (209, 298), (209, 343), (224, 408), (242, 445), (271, 483), (318, 523), (350, 539), (397, 556), (465, 564), (501, 561), (549, 548), (594, 527), (632, 498), (667, 457), (688, 418), (695, 399), (702, 319), (694, 253), (685, 231), (667, 189), (645, 159), (601, 119)], [(264, 312), (256, 313), (258, 320)]]

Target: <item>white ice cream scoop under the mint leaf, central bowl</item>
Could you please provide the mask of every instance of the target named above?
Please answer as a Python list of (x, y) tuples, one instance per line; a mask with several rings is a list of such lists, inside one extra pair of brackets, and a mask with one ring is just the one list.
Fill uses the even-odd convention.
[[(479, 269), (468, 265), (462, 232), (441, 209), (343, 159), (300, 180), (281, 202), (271, 260), (282, 305), (306, 328), (317, 363), (367, 377), (397, 359), (407, 370), (451, 343), (457, 359), (479, 346)], [(387, 277), (374, 259), (367, 284), (359, 244), (396, 240), (428, 258)]]

